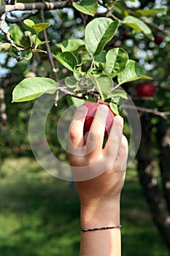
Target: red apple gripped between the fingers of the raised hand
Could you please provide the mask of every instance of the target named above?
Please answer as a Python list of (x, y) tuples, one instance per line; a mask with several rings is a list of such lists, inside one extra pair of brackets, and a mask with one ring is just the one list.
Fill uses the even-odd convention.
[[(85, 135), (86, 132), (89, 132), (91, 123), (93, 121), (93, 117), (95, 116), (95, 113), (96, 113), (96, 109), (98, 108), (99, 105), (101, 105), (101, 103), (87, 102), (83, 105), (85, 105), (88, 108), (88, 113), (85, 117), (85, 124), (84, 124), (84, 129), (83, 129), (83, 134)], [(109, 108), (108, 104), (104, 104), (104, 105), (107, 105), (107, 107)], [(104, 138), (107, 138), (109, 135), (109, 131), (112, 127), (112, 122), (114, 120), (114, 117), (115, 117), (115, 113), (113, 113), (112, 110), (109, 108), (109, 113), (108, 113), (107, 121), (106, 121), (106, 127), (104, 130)]]

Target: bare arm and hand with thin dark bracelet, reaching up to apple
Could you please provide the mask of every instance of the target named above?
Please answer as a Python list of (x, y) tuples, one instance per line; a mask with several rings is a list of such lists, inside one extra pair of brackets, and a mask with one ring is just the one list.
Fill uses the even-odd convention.
[[(87, 108), (78, 108), (69, 130), (69, 159), (77, 180), (81, 227), (117, 227), (120, 225), (120, 192), (128, 157), (123, 118), (115, 117), (106, 146), (102, 148), (104, 125), (101, 121), (106, 122), (108, 109), (102, 105), (96, 110), (85, 142), (82, 131), (86, 113)], [(90, 173), (91, 178), (81, 178), (77, 170)], [(120, 228), (81, 232), (80, 255), (120, 256)]]

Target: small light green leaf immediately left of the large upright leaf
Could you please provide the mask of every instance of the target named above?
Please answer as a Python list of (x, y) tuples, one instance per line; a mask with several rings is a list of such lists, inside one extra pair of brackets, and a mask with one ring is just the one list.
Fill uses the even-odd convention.
[(67, 39), (58, 45), (61, 46), (62, 52), (65, 52), (77, 50), (80, 46), (85, 45), (85, 42), (82, 39)]

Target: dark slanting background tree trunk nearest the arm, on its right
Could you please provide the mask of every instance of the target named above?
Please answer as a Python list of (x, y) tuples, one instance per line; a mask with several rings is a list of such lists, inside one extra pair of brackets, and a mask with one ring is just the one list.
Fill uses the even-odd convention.
[(155, 176), (150, 115), (141, 118), (142, 140), (137, 154), (139, 181), (150, 207), (150, 213), (170, 251), (170, 214), (166, 199)]

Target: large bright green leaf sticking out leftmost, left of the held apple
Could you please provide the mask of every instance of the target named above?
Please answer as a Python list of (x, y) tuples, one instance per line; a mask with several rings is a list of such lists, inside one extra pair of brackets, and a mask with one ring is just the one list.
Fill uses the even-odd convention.
[(26, 102), (42, 94), (53, 94), (58, 84), (50, 78), (26, 78), (12, 91), (12, 102)]

